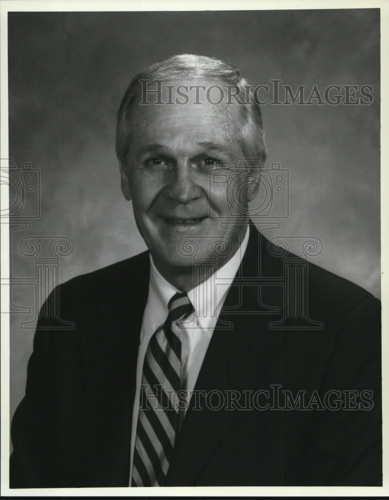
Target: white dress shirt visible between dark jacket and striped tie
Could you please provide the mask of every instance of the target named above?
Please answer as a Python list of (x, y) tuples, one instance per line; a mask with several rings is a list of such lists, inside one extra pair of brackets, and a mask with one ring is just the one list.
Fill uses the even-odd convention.
[[(206, 281), (187, 292), (187, 296), (194, 308), (193, 319), (189, 322), (186, 321), (184, 326), (180, 327), (181, 387), (187, 391), (194, 389), (221, 307), (246, 250), (248, 234), (249, 228), (247, 226), (242, 244), (228, 262), (217, 269)], [(160, 274), (150, 255), (148, 297), (143, 312), (136, 363), (136, 389), (132, 411), (130, 483), (144, 356), (151, 336), (166, 320), (168, 301), (177, 291), (179, 290)]]

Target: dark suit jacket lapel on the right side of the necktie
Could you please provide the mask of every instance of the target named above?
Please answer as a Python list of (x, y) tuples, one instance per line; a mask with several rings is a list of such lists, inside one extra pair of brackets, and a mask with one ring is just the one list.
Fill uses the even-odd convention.
[[(251, 227), (249, 244), (237, 276), (244, 276), (243, 269), (250, 268), (257, 275), (257, 243), (258, 232), (255, 227)], [(244, 389), (250, 389), (252, 384), (257, 387), (258, 382), (264, 380), (266, 371), (281, 347), (280, 333), (268, 330), (268, 314), (252, 313), (261, 308), (258, 299), (257, 286), (241, 286), (235, 277), (209, 342), (194, 388), (195, 395), (190, 400), (183, 420), (166, 485), (193, 483), (239, 414), (237, 409), (224, 411), (225, 391), (236, 390), (241, 393)], [(241, 306), (236, 309), (237, 303)], [(234, 306), (235, 313), (232, 313), (228, 309)], [(239, 310), (246, 312), (239, 313)], [(233, 327), (225, 327), (226, 323), (232, 323)], [(212, 391), (213, 396), (210, 398)], [(201, 392), (208, 394), (208, 402), (214, 406), (220, 404), (219, 397), (224, 398), (224, 406), (219, 410), (207, 407), (206, 398)]]

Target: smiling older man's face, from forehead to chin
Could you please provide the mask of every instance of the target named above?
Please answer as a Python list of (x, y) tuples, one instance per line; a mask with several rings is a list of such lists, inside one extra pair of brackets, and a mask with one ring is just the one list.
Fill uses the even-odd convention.
[[(212, 257), (212, 245), (222, 241), (230, 251), (219, 264), (227, 261), (239, 247), (248, 220), (230, 214), (227, 183), (210, 179), (216, 163), (229, 163), (233, 169), (243, 156), (239, 105), (194, 101), (193, 95), (184, 105), (135, 105), (128, 164), (121, 172), (122, 190), (132, 199), (140, 234), (157, 267), (164, 269), (192, 266), (189, 240), (198, 247), (196, 259)], [(240, 205), (247, 206), (256, 189), (245, 188)]]

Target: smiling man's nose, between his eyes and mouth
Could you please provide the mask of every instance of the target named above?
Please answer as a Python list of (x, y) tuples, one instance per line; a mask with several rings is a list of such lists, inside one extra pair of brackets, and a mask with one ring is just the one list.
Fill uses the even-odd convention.
[(177, 161), (170, 170), (163, 195), (182, 204), (201, 197), (202, 190), (197, 184), (195, 168), (188, 161)]

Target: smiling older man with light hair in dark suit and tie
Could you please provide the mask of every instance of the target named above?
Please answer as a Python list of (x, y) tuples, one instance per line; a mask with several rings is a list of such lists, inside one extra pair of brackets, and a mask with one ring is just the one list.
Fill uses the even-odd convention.
[(266, 153), (248, 82), (203, 56), (148, 66), (116, 151), (149, 251), (42, 308), (11, 487), (379, 485), (379, 302), (250, 221)]

